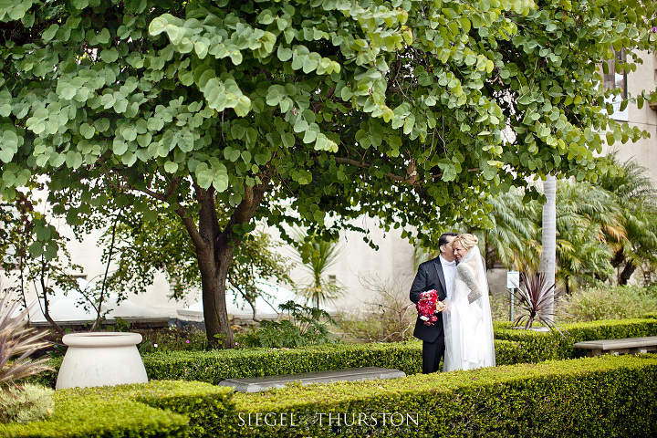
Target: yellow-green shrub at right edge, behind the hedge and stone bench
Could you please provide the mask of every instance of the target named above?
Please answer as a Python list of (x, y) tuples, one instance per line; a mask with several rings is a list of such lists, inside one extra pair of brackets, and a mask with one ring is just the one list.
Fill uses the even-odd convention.
[(657, 308), (657, 294), (637, 286), (597, 287), (573, 292), (567, 318), (573, 322), (641, 318)]

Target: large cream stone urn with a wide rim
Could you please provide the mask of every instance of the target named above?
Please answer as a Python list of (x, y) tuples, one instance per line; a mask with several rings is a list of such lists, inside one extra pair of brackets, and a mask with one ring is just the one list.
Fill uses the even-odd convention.
[(68, 349), (57, 374), (57, 390), (148, 382), (137, 350), (139, 333), (73, 333), (64, 335), (62, 342)]

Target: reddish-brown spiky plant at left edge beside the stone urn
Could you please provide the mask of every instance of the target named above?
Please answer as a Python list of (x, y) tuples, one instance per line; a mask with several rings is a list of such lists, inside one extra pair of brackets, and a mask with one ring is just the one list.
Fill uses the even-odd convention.
[[(0, 289), (1, 290), (1, 289)], [(0, 388), (9, 386), (19, 379), (52, 370), (47, 360), (31, 360), (37, 349), (48, 345), (43, 341), (47, 331), (37, 332), (26, 325), (28, 309), (19, 310), (19, 304), (0, 291)]]

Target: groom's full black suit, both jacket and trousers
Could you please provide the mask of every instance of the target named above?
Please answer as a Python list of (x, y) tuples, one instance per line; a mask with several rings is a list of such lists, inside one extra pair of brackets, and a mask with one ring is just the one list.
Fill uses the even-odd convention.
[[(443, 266), (439, 257), (422, 263), (418, 268), (412, 282), (411, 301), (417, 303), (422, 292), (431, 289), (436, 290), (439, 300), (443, 301), (447, 297)], [(413, 336), (422, 339), (422, 373), (424, 374), (437, 371), (444, 355), (443, 314), (439, 313), (437, 316), (438, 320), (430, 326), (424, 324), (420, 317), (415, 321)]]

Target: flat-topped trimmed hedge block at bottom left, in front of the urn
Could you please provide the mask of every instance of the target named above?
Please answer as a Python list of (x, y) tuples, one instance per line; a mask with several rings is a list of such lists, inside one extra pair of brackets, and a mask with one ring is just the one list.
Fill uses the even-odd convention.
[[(59, 390), (45, 421), (0, 424), (6, 438), (220, 436), (235, 412), (229, 388), (192, 381)], [(226, 422), (230, 419), (230, 422)]]

